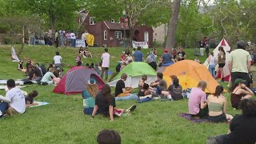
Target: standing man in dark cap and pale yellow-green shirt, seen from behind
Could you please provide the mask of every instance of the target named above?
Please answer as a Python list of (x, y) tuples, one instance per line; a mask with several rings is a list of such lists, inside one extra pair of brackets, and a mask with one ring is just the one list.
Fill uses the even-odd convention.
[(242, 78), (246, 80), (246, 86), (250, 86), (248, 73), (250, 72), (251, 61), (250, 54), (246, 51), (246, 42), (239, 41), (238, 49), (231, 51), (228, 58), (232, 85), (237, 78)]

